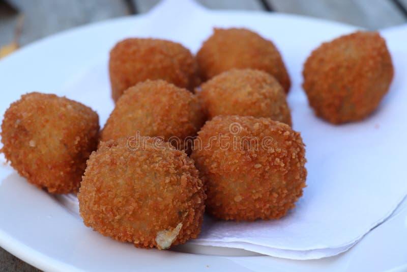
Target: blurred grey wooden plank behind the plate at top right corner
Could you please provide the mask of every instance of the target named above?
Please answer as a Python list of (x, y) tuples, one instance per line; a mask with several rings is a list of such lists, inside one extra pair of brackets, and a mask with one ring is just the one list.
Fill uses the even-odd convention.
[(267, 0), (278, 12), (295, 13), (381, 29), (406, 22), (390, 0)]

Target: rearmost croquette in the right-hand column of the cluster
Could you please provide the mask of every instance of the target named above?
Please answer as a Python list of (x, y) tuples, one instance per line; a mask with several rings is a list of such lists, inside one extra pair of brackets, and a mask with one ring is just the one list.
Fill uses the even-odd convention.
[(276, 46), (247, 29), (215, 28), (196, 59), (204, 81), (232, 68), (251, 68), (273, 75), (288, 93), (290, 79)]

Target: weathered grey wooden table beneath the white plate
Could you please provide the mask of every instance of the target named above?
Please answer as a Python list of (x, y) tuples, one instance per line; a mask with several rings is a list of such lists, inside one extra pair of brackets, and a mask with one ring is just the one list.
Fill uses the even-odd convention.
[[(24, 46), (75, 26), (145, 13), (159, 0), (0, 0), (0, 48)], [(197, 0), (210, 9), (263, 10), (377, 30), (407, 23), (407, 0)], [(0, 271), (39, 271), (0, 248)]]

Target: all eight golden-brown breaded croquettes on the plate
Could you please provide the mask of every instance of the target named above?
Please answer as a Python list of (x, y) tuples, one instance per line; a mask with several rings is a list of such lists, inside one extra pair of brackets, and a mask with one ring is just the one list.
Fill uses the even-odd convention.
[[(2, 152), (21, 176), (54, 194), (80, 186), (86, 226), (167, 249), (197, 237), (205, 208), (220, 220), (275, 220), (302, 196), (305, 145), (273, 42), (215, 29), (194, 58), (179, 43), (126, 39), (109, 72), (117, 103), (100, 138), (91, 108), (51, 94), (23, 95), (2, 123)], [(315, 114), (340, 124), (376, 109), (393, 65), (379, 34), (357, 32), (312, 51), (303, 76)]]

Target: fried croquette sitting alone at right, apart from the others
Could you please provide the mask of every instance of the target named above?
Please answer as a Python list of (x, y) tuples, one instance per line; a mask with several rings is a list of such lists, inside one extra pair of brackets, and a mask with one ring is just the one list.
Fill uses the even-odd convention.
[(356, 32), (323, 43), (303, 70), (303, 88), (315, 114), (333, 123), (360, 121), (387, 93), (393, 65), (376, 32)]

